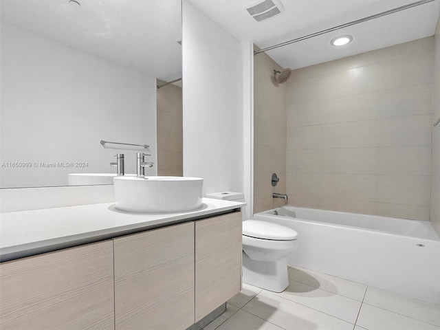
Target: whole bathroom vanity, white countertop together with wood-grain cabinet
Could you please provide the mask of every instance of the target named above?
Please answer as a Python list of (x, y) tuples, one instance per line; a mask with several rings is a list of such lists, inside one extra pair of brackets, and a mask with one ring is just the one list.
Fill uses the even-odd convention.
[(243, 205), (2, 213), (0, 328), (187, 329), (241, 289)]

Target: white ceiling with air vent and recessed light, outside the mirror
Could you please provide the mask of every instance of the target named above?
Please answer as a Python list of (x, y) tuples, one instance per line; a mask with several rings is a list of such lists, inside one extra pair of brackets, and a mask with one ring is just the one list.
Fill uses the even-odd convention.
[[(188, 0), (239, 40), (265, 48), (278, 43), (363, 19), (417, 0), (281, 0), (285, 12), (257, 22), (245, 10), (254, 0)], [(261, 2), (261, 1), (258, 1)], [(282, 67), (297, 69), (432, 36), (440, 13), (440, 0), (349, 28), (322, 34), (270, 50)], [(351, 34), (353, 42), (330, 45), (335, 36)]]

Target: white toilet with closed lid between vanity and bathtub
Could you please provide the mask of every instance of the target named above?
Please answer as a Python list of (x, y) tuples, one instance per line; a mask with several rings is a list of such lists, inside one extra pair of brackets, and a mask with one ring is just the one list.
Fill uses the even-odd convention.
[[(241, 192), (215, 192), (206, 197), (244, 202)], [(289, 286), (286, 258), (296, 248), (298, 233), (292, 228), (268, 221), (243, 221), (243, 282), (283, 292)]]

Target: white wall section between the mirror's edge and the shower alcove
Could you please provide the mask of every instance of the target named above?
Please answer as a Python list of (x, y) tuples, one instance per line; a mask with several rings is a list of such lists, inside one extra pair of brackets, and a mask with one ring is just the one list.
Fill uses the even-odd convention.
[(243, 45), (183, 3), (184, 175), (243, 192)]

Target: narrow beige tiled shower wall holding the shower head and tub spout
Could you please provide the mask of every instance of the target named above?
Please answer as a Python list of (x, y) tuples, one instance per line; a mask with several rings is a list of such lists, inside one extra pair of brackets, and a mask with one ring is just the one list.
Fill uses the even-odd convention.
[(275, 82), (274, 69), (281, 67), (266, 54), (254, 56), (254, 213), (285, 204), (272, 198), (286, 192), (286, 85)]

